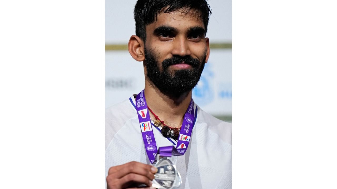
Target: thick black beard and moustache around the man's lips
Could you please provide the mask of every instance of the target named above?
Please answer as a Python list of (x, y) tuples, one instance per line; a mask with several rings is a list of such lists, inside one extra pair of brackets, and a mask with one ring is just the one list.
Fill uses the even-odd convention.
[[(207, 49), (204, 51), (202, 62), (191, 56), (173, 56), (159, 64), (157, 61), (158, 56), (152, 52), (154, 52), (152, 49), (147, 50), (145, 48), (147, 78), (162, 93), (168, 96), (179, 97), (183, 93), (191, 91), (199, 82), (205, 66)], [(192, 69), (169, 69), (171, 65), (180, 64), (182, 61), (185, 64), (191, 65)], [(162, 68), (161, 71), (159, 65)]]

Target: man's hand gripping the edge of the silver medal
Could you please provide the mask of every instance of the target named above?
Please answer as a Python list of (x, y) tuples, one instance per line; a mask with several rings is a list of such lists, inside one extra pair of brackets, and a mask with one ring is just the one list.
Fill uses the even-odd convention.
[(136, 188), (139, 185), (145, 184), (149, 187), (148, 189), (152, 189), (151, 181), (154, 179), (155, 173), (157, 173), (157, 168), (154, 166), (136, 161), (110, 167), (108, 177), (106, 177), (107, 188)]

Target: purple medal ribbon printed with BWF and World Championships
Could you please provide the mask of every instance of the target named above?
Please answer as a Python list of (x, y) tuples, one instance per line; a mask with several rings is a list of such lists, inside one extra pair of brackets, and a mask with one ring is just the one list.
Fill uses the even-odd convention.
[[(181, 128), (180, 128), (180, 133), (179, 133), (179, 138), (178, 138), (178, 143), (177, 143), (177, 151), (179, 152), (179, 154), (172, 153), (173, 151), (175, 151), (174, 150), (175, 148), (172, 149), (173, 151), (171, 150), (171, 152), (165, 152), (165, 153), (171, 153), (174, 156), (185, 154), (188, 148), (192, 129), (194, 126), (193, 106), (194, 106), (194, 103), (193, 103), (193, 100), (191, 99), (191, 102), (184, 115), (183, 124), (181, 125)], [(146, 153), (151, 163), (154, 163), (158, 149), (157, 149), (156, 140), (154, 139), (154, 134), (152, 131), (150, 113), (147, 108), (147, 103), (146, 103), (145, 96), (144, 96), (144, 90), (142, 90), (136, 97), (136, 110), (138, 112), (138, 119), (139, 119), (141, 131), (142, 131)], [(164, 147), (161, 147), (161, 148), (164, 148)], [(171, 148), (168, 148), (168, 149), (171, 149)]]

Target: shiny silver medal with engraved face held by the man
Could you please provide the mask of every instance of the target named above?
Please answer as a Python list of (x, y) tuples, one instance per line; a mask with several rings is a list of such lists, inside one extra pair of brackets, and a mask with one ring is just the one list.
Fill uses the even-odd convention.
[(174, 189), (178, 188), (182, 181), (176, 166), (166, 157), (160, 159), (155, 165), (158, 172), (154, 175), (152, 181), (153, 187), (158, 189)]

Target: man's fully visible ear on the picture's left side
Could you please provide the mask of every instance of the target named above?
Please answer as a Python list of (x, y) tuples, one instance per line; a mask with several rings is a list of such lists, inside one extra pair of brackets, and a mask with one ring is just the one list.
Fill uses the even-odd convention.
[(144, 42), (140, 37), (132, 35), (128, 43), (128, 49), (134, 60), (139, 62), (145, 60)]

